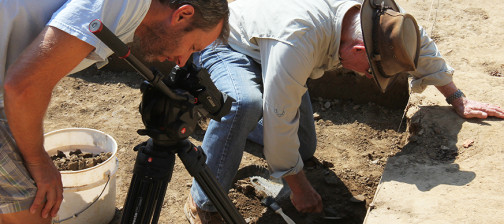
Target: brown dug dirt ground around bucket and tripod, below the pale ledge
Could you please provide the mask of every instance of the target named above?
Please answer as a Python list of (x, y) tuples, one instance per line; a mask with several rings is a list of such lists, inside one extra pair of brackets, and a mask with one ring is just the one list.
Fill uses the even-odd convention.
[[(54, 91), (47, 113), (46, 130), (87, 127), (104, 131), (118, 143), (117, 208), (124, 204), (130, 184), (136, 152), (133, 147), (147, 138), (139, 136), (143, 128), (138, 104), (141, 79), (132, 72), (88, 69), (64, 78)], [(354, 104), (347, 100), (313, 99), (317, 116), (318, 148), (316, 160), (305, 172), (321, 194), (325, 216), (340, 217), (339, 223), (362, 223), (388, 156), (397, 153), (406, 141), (402, 110), (374, 103)], [(203, 122), (203, 124), (205, 124)], [(205, 125), (189, 138), (200, 145)], [(251, 223), (281, 223), (280, 216), (265, 209), (260, 197), (250, 191), (249, 177), (267, 176), (261, 167), (266, 162), (261, 146), (248, 142), (237, 184), (229, 196), (243, 217)], [(168, 185), (160, 223), (185, 223), (183, 205), (191, 177), (177, 158)], [(355, 196), (355, 197), (352, 197)], [(288, 198), (279, 201), (296, 223), (333, 223), (322, 216), (295, 212)], [(118, 212), (120, 214), (120, 212)]]

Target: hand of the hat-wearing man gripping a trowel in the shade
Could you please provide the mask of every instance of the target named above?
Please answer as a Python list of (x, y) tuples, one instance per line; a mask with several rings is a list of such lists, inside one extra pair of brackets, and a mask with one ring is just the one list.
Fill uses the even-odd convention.
[(299, 212), (303, 213), (321, 213), (322, 198), (313, 189), (308, 179), (301, 171), (294, 175), (284, 177), (291, 188), (291, 202)]

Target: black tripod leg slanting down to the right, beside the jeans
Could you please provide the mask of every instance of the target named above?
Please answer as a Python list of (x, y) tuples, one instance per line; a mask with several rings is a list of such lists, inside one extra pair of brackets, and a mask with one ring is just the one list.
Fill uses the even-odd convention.
[(187, 144), (188, 147), (178, 151), (178, 156), (189, 174), (196, 179), (226, 223), (244, 224), (245, 220), (206, 165), (206, 156), (203, 150), (196, 148), (189, 141)]

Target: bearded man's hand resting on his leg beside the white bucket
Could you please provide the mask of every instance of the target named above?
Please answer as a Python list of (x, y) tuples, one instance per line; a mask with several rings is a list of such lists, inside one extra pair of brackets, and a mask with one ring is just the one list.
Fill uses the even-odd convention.
[(30, 213), (35, 214), (38, 209), (42, 209), (43, 218), (47, 218), (49, 213), (55, 217), (63, 200), (61, 174), (47, 153), (41, 157), (39, 161), (25, 162), (37, 185), (37, 194), (30, 207)]

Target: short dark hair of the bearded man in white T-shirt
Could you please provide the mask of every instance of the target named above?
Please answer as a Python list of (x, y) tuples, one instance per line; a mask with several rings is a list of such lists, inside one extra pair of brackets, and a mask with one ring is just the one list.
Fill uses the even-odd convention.
[(163, 4), (168, 4), (170, 8), (177, 9), (183, 5), (191, 5), (194, 7), (194, 20), (192, 29), (202, 29), (205, 31), (211, 30), (222, 20), (222, 31), (218, 37), (218, 41), (222, 44), (227, 43), (229, 37), (229, 7), (227, 0), (159, 0)]

